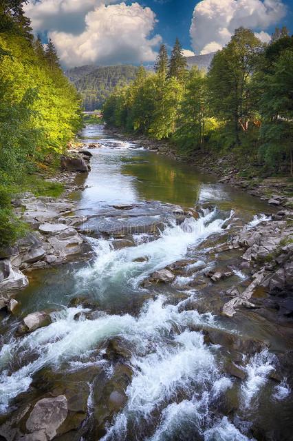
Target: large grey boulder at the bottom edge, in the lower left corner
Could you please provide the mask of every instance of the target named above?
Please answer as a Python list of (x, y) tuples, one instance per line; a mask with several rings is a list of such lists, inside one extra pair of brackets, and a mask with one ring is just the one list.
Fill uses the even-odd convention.
[(52, 440), (57, 435), (58, 428), (66, 420), (67, 413), (67, 398), (64, 395), (39, 400), (26, 422), (26, 428), (36, 437), (24, 439)]

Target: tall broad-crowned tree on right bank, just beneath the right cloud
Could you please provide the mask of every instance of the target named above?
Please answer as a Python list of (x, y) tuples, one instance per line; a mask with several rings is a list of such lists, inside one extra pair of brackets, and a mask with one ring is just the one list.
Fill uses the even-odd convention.
[(241, 131), (246, 132), (254, 120), (250, 80), (261, 48), (251, 30), (239, 28), (215, 54), (208, 72), (210, 105), (214, 114), (229, 123), (235, 145), (240, 145)]

